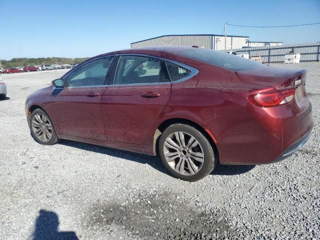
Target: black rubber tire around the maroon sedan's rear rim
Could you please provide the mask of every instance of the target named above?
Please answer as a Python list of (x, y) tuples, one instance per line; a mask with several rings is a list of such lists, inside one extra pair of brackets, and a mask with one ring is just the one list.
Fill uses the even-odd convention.
[[(192, 175), (183, 175), (178, 172), (176, 172), (171, 166), (167, 163), (165, 156), (164, 156), (164, 141), (166, 138), (172, 134), (173, 132), (176, 131), (182, 131), (185, 132), (191, 136), (193, 136), (200, 146), (202, 147), (203, 151), (203, 165), (202, 167), (198, 170), (198, 172), (192, 174)], [(187, 124), (181, 124), (181, 123), (176, 123), (168, 126), (161, 134), (160, 139), (159, 139), (159, 155), (162, 163), (164, 164), (165, 168), (174, 176), (177, 178), (180, 178), (181, 180), (186, 180), (186, 181), (197, 181), (204, 176), (208, 175), (215, 167), (217, 163), (217, 159), (214, 157), (214, 151), (212, 149), (212, 146), (208, 139), (196, 128), (187, 125)], [(176, 160), (175, 160), (176, 161)]]

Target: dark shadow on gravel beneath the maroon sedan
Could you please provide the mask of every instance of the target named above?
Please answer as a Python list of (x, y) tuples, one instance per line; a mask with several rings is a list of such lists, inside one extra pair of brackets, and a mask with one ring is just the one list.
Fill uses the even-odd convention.
[[(66, 146), (76, 147), (82, 150), (93, 151), (101, 154), (107, 154), (114, 157), (121, 157), (130, 161), (136, 161), (142, 164), (148, 164), (156, 170), (170, 175), (169, 172), (163, 166), (161, 160), (156, 156), (145, 155), (141, 153), (125, 151), (115, 148), (103, 147), (98, 145), (91, 145), (88, 143), (61, 140), (59, 144)], [(210, 173), (211, 175), (238, 175), (248, 172), (254, 168), (255, 165), (220, 165), (217, 164), (214, 170)]]

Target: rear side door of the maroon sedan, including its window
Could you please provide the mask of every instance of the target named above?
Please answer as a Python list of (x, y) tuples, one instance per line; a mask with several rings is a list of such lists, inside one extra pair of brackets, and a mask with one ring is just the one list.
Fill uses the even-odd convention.
[(114, 80), (103, 92), (105, 139), (141, 144), (169, 101), (171, 82), (163, 60), (121, 55)]

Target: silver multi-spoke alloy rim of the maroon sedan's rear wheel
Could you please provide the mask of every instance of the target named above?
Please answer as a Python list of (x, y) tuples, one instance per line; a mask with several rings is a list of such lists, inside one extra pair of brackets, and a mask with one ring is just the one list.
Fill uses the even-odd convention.
[(204, 153), (199, 141), (183, 131), (167, 136), (163, 154), (168, 165), (182, 175), (193, 175), (203, 166)]

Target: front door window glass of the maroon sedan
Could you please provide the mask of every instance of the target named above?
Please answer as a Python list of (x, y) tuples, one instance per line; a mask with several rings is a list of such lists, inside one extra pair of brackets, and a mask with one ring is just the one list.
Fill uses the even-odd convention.
[(105, 75), (113, 57), (99, 58), (89, 61), (76, 68), (67, 77), (67, 86), (97, 86), (103, 85)]

